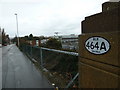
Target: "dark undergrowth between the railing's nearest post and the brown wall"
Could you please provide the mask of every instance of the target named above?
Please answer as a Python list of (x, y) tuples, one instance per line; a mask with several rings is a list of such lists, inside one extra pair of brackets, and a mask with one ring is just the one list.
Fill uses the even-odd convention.
[[(51, 73), (49, 80), (58, 87), (65, 88), (78, 72), (77, 56), (43, 50), (43, 60), (44, 67)], [(78, 80), (74, 84), (78, 86)]]

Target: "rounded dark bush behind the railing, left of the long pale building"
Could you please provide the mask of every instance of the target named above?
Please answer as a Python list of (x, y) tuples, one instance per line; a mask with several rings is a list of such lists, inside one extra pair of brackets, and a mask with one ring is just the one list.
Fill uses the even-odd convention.
[(48, 48), (54, 48), (54, 49), (61, 49), (62, 48), (61, 42), (58, 39), (55, 39), (55, 38), (50, 38), (46, 42), (45, 46), (48, 47)]

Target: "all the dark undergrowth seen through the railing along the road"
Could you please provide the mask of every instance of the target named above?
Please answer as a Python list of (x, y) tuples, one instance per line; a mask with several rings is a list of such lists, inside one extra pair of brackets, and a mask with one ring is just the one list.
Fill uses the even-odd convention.
[[(41, 69), (40, 49), (36, 47), (31, 48), (29, 45), (27, 47), (23, 45), (20, 48), (29, 57), (32, 56), (37, 61), (35, 62), (36, 67), (46, 75), (51, 83), (55, 83), (60, 88), (65, 88), (78, 73), (78, 56), (42, 50), (44, 69)], [(75, 80), (71, 87), (73, 85), (78, 86), (78, 79)]]

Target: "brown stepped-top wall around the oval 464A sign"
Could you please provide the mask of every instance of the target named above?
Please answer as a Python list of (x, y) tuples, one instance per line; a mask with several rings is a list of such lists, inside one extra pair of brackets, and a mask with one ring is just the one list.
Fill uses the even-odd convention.
[[(79, 87), (120, 88), (120, 2), (106, 2), (101, 13), (82, 21), (79, 36)], [(110, 42), (109, 52), (94, 55), (85, 48), (85, 42), (101, 36)]]

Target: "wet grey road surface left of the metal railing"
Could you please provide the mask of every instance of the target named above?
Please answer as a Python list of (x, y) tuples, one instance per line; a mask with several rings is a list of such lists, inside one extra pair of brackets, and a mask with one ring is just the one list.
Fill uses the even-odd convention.
[(3, 88), (53, 88), (14, 44), (2, 48), (2, 70)]

